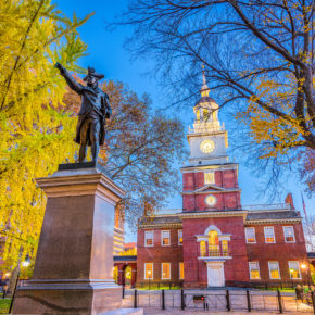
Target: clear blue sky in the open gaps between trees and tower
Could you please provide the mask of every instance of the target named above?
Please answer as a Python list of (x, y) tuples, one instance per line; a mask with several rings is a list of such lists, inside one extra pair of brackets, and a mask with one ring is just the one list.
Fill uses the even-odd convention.
[[(52, 0), (52, 2), (56, 3), (58, 8), (70, 17), (74, 12), (79, 17), (94, 12), (94, 15), (78, 29), (81, 39), (88, 45), (89, 53), (88, 56), (79, 61), (79, 65), (84, 67), (93, 66), (98, 72), (105, 74), (106, 78), (127, 84), (139, 96), (144, 92), (149, 93), (154, 108), (168, 105), (167, 98), (163, 98), (163, 89), (158, 85), (154, 75), (152, 73), (151, 75), (147, 74), (152, 68), (152, 65), (154, 65), (154, 60), (137, 60), (131, 62), (129, 53), (124, 49), (124, 41), (131, 34), (130, 27), (119, 27), (113, 32), (109, 32), (105, 28), (105, 21), (114, 21), (115, 16), (118, 16), (126, 8), (127, 0)], [(192, 105), (191, 110), (184, 110), (182, 113), (179, 113), (179, 117), (186, 123), (187, 129), (193, 119)], [(189, 106), (187, 108), (189, 109)], [(219, 116), (224, 121), (224, 113), (220, 113)], [(228, 128), (227, 124), (226, 126)], [(239, 185), (242, 189), (242, 204), (267, 202), (267, 198), (257, 196), (256, 184), (256, 179), (251, 176), (250, 169), (240, 165)], [(291, 182), (288, 182), (288, 192), (293, 193), (295, 207), (302, 212), (301, 190), (302, 186), (299, 182), (298, 176), (292, 178)], [(284, 202), (284, 200), (275, 202)], [(315, 199), (308, 199), (304, 194), (304, 200), (308, 214), (315, 214)], [(179, 193), (169, 200), (168, 207), (181, 207), (181, 197)], [(126, 242), (136, 241), (136, 236), (127, 227), (126, 231)]]

